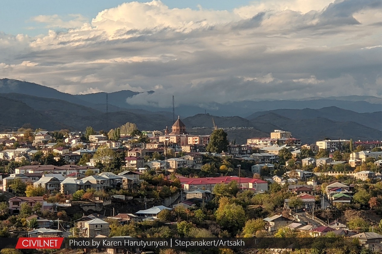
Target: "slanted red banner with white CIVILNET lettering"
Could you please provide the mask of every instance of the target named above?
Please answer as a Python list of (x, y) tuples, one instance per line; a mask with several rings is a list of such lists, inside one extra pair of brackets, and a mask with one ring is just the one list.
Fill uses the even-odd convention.
[(63, 237), (21, 237), (16, 249), (60, 249)]

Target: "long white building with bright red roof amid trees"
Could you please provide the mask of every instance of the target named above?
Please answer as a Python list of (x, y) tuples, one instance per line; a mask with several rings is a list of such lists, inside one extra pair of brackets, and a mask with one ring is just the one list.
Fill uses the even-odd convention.
[(179, 179), (183, 182), (185, 192), (193, 191), (196, 189), (210, 190), (212, 191), (217, 184), (229, 184), (231, 181), (236, 181), (236, 184), (240, 189), (253, 190), (254, 192), (265, 192), (268, 190), (268, 182), (256, 178), (244, 178), (237, 176), (220, 176), (220, 177), (201, 177), (201, 178), (189, 178)]

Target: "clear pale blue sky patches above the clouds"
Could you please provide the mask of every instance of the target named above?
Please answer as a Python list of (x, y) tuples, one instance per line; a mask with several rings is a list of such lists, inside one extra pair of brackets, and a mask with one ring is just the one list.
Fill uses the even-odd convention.
[[(31, 36), (45, 34), (47, 28), (45, 24), (31, 21), (32, 17), (38, 15), (62, 16), (64, 19), (68, 14), (81, 14), (88, 21), (91, 21), (100, 11), (113, 8), (121, 3), (128, 2), (123, 0), (1, 0), (0, 1), (0, 32), (6, 34), (28, 34)], [(149, 2), (138, 0), (137, 2)], [(233, 8), (247, 5), (249, 0), (162, 0), (170, 8), (191, 8), (198, 9), (201, 5), (205, 9), (232, 10)], [(34, 29), (31, 29), (31, 28)]]

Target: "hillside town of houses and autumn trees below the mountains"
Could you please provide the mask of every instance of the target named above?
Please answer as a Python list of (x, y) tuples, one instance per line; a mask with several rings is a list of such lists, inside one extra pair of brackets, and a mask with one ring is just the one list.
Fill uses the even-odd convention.
[(0, 237), (336, 237), (325, 248), (382, 251), (382, 141), (274, 130), (236, 144), (180, 117), (164, 127), (0, 133)]

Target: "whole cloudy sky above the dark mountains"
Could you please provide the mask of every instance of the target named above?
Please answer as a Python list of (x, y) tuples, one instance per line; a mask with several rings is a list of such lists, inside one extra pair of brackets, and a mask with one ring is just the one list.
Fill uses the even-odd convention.
[(380, 97), (381, 25), (380, 0), (2, 0), (0, 78), (160, 107)]

